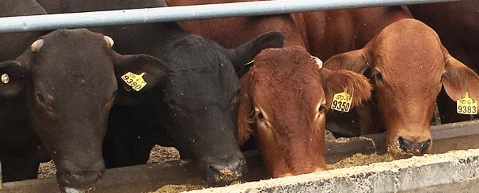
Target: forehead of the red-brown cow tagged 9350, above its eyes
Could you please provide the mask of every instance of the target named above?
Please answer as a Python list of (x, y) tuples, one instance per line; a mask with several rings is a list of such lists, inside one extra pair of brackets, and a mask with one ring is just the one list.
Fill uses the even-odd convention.
[(301, 48), (265, 50), (250, 71), (252, 99), (265, 111), (290, 109), (290, 116), (297, 116), (324, 98), (318, 65)]

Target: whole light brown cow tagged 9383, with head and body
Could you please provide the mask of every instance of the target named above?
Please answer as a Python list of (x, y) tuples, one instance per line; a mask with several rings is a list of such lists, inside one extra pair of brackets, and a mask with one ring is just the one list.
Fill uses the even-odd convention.
[(375, 104), (361, 111), (380, 116), (362, 117), (362, 126), (384, 123), (388, 150), (395, 158), (431, 149), (429, 122), (441, 87), (454, 101), (466, 92), (479, 99), (478, 75), (452, 57), (436, 32), (412, 19), (405, 7), (311, 12), (304, 17), (311, 53), (329, 58), (324, 67), (372, 79)]

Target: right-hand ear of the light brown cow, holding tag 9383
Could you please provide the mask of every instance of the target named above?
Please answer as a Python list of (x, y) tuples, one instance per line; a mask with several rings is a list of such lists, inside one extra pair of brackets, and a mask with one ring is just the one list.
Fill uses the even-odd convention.
[(479, 76), (472, 69), (448, 54), (444, 68), (446, 72), (441, 81), (453, 101), (464, 98), (465, 92), (469, 92), (470, 98), (479, 100)]

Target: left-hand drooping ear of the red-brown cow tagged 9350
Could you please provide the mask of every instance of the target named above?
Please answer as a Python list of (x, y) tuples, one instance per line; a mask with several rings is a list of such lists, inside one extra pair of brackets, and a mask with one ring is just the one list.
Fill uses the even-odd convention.
[(249, 127), (249, 125), (252, 123), (251, 116), (253, 111), (253, 104), (249, 98), (249, 73), (244, 75), (244, 77), (240, 79), (240, 82), (242, 87), (239, 91), (237, 141), (239, 145), (242, 145), (253, 133), (253, 130)]

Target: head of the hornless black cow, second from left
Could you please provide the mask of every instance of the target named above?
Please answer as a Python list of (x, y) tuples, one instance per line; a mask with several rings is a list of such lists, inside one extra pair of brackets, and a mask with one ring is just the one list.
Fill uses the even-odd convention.
[(232, 50), (188, 35), (163, 54), (171, 75), (160, 88), (158, 111), (182, 158), (198, 162), (206, 180), (230, 182), (246, 170), (235, 139), (237, 72), (262, 49), (282, 45), (279, 32), (259, 35)]

